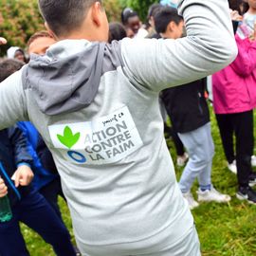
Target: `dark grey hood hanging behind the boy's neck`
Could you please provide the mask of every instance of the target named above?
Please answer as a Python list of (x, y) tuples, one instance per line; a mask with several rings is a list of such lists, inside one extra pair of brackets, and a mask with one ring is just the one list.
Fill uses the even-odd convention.
[(32, 90), (40, 110), (48, 116), (78, 111), (95, 99), (102, 73), (119, 65), (106, 58), (112, 55), (110, 51), (105, 43), (58, 42), (45, 56), (31, 56), (23, 71), (23, 86)]

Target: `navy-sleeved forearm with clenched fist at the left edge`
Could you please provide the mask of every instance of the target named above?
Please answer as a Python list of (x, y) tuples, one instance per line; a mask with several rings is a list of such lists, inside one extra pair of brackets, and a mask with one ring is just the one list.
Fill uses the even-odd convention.
[(30, 169), (33, 159), (27, 151), (27, 138), (22, 131), (15, 125), (9, 128), (9, 138), (14, 149), (14, 158), (17, 170), (14, 173), (15, 186), (27, 186), (33, 179), (33, 172)]

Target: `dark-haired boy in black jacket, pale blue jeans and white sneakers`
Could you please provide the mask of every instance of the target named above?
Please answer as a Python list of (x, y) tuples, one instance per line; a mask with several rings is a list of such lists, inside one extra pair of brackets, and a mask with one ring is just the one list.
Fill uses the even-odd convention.
[[(183, 34), (183, 18), (171, 7), (155, 14), (156, 32), (164, 39), (178, 39)], [(187, 152), (189, 161), (181, 175), (179, 187), (191, 209), (199, 204), (191, 188), (198, 178), (198, 201), (228, 202), (230, 196), (217, 192), (210, 180), (214, 145), (210, 134), (210, 114), (205, 99), (205, 80), (166, 89), (162, 100)]]

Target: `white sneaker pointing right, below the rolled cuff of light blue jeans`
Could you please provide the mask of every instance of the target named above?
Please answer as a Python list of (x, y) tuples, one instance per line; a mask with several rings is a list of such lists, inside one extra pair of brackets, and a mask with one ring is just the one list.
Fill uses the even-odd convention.
[(221, 193), (216, 191), (213, 187), (207, 191), (197, 191), (199, 202), (217, 202), (217, 203), (227, 203), (230, 201), (231, 197), (229, 194)]

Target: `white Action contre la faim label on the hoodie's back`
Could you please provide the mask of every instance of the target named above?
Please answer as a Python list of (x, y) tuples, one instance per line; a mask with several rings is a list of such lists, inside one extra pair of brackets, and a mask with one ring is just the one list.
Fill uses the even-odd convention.
[(48, 129), (54, 147), (78, 164), (114, 163), (143, 144), (126, 106), (100, 119), (51, 125)]

